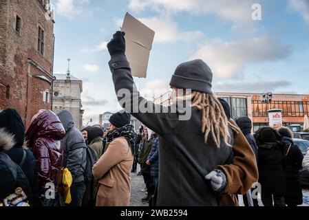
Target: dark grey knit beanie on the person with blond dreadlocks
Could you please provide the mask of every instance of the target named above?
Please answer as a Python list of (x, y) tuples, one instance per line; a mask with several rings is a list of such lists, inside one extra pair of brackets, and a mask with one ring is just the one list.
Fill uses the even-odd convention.
[(192, 91), (213, 94), (212, 81), (211, 69), (204, 61), (198, 59), (178, 65), (175, 73), (171, 76), (169, 85), (178, 89), (192, 89)]

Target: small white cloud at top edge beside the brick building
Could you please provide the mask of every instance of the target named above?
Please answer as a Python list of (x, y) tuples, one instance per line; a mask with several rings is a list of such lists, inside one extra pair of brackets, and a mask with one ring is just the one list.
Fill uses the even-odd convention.
[(89, 3), (89, 0), (57, 0), (56, 13), (67, 19), (73, 19), (88, 12), (85, 10), (85, 3)]

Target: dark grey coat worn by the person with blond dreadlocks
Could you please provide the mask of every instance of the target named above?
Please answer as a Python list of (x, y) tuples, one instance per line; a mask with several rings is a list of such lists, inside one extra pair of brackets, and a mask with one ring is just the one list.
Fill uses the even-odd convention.
[[(189, 120), (180, 120), (180, 111), (173, 113), (172, 107), (164, 109), (167, 113), (142, 113), (132, 109), (141, 104), (152, 110), (161, 109), (162, 112), (164, 107), (156, 106), (140, 96), (124, 55), (112, 57), (109, 67), (116, 93), (120, 89), (129, 91), (130, 96), (118, 97), (120, 102), (127, 102), (125, 106), (120, 105), (159, 135), (160, 172), (156, 205), (217, 206), (216, 193), (204, 180), (204, 175), (217, 165), (231, 163), (232, 148), (226, 145), (217, 148), (211, 139), (205, 144), (201, 131), (202, 113), (197, 108), (192, 108)], [(138, 104), (134, 104), (136, 100)]]

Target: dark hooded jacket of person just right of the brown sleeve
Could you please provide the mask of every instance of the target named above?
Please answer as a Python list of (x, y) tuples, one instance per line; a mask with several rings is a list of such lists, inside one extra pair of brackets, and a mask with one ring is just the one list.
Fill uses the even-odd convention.
[(251, 129), (252, 129), (252, 122), (251, 119), (248, 117), (241, 117), (237, 118), (235, 120), (236, 124), (239, 126), (239, 129), (242, 130), (242, 133), (246, 137), (246, 140), (250, 144), (251, 148), (253, 149), (253, 152), (255, 153), (255, 158), (258, 161), (258, 146), (257, 142), (255, 141), (255, 138), (251, 134)]

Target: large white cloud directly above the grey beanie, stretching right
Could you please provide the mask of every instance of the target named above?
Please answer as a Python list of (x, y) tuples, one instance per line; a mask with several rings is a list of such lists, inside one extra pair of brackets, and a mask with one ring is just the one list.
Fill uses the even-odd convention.
[(235, 78), (248, 63), (277, 61), (291, 53), (290, 45), (283, 45), (267, 36), (246, 41), (224, 42), (220, 39), (206, 43), (191, 58), (201, 58), (218, 78)]

